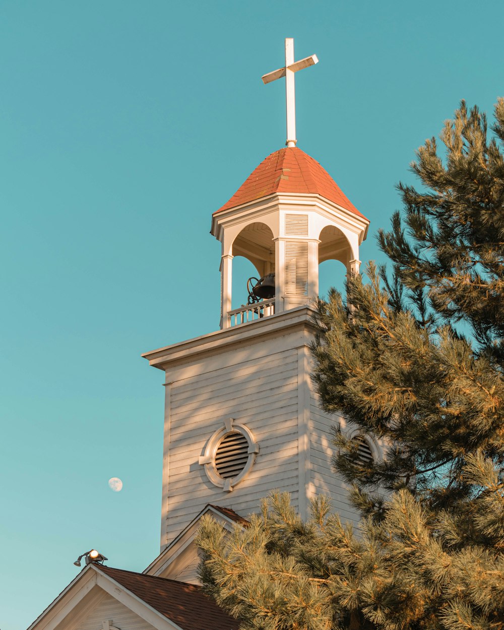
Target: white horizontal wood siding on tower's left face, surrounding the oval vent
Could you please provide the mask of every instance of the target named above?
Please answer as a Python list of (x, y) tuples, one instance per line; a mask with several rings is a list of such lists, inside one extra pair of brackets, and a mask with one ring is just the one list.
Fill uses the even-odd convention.
[[(278, 488), (291, 492), (297, 505), (297, 347), (301, 343), (301, 336), (285, 335), (167, 372), (172, 384), (163, 513), (168, 519), (166, 542), (207, 503), (246, 516), (258, 512), (261, 498)], [(248, 476), (234, 490), (224, 492), (209, 481), (198, 459), (209, 438), (230, 417), (251, 430), (260, 451)], [(190, 576), (193, 568), (187, 571)]]

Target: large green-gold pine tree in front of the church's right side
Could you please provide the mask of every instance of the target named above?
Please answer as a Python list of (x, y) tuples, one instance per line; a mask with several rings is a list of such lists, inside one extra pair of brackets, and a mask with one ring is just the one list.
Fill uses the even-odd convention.
[(384, 447), (363, 462), (335, 428), (362, 531), (283, 495), (232, 536), (202, 526), (203, 585), (244, 628), (504, 629), (504, 100), (495, 119), (488, 139), (461, 103), (379, 232), (391, 273), (318, 304), (321, 405)]

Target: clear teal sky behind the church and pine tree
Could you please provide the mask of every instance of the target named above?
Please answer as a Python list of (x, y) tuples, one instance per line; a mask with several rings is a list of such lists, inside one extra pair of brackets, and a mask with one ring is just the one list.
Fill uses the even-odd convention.
[(298, 146), (382, 260), (415, 149), (504, 95), (503, 23), (501, 1), (0, 0), (1, 630), (91, 547), (136, 571), (159, 551), (163, 374), (140, 353), (218, 328), (210, 216), (284, 146), (284, 84), (260, 80), (284, 38), (319, 57)]

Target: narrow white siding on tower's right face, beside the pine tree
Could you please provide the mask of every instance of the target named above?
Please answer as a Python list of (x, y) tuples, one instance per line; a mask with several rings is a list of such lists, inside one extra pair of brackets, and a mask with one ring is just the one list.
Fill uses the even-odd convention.
[(327, 495), (331, 499), (333, 509), (341, 520), (358, 525), (358, 514), (348, 503), (347, 486), (340, 475), (333, 472), (331, 457), (334, 447), (331, 444), (332, 427), (344, 420), (336, 415), (328, 415), (321, 411), (318, 398), (314, 392), (311, 396), (311, 483), (316, 495)]

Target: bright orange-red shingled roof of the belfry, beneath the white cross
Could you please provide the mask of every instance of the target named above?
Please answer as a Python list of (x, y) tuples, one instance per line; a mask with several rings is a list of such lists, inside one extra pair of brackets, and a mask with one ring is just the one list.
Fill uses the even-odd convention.
[(297, 147), (285, 147), (266, 157), (217, 212), (273, 193), (314, 193), (365, 219), (329, 173)]

